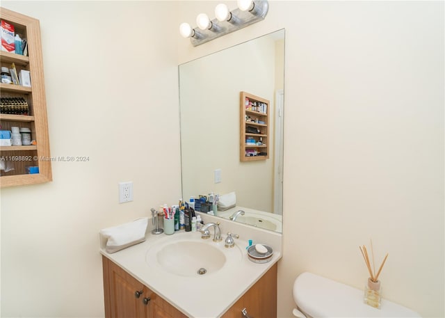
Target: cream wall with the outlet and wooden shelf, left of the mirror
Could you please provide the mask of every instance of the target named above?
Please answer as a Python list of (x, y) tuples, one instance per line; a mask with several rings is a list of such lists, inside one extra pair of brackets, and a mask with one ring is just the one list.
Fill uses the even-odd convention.
[[(51, 155), (90, 157), (54, 162), (53, 182), (1, 189), (1, 316), (103, 317), (99, 230), (181, 196), (177, 26), (159, 29), (175, 6), (1, 6), (40, 19)], [(120, 205), (129, 180), (134, 201)]]

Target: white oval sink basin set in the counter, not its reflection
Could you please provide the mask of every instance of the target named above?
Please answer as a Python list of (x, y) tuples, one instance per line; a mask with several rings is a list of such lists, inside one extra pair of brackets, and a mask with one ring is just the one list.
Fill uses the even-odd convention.
[(145, 260), (149, 266), (177, 276), (209, 276), (241, 261), (241, 250), (225, 248), (223, 241), (201, 239), (200, 234), (175, 233), (150, 248)]

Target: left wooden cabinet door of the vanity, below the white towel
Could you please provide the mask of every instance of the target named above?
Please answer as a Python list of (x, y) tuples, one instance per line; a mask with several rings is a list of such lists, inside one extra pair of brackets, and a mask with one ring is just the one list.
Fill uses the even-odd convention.
[[(108, 292), (106, 275), (104, 275), (104, 294), (106, 317), (136, 318), (149, 317), (150, 301), (145, 304), (145, 297), (149, 297), (149, 289), (126, 271), (118, 267), (106, 257), (103, 257), (104, 273), (108, 267)], [(107, 264), (105, 264), (105, 262)], [(107, 295), (108, 294), (108, 295)]]

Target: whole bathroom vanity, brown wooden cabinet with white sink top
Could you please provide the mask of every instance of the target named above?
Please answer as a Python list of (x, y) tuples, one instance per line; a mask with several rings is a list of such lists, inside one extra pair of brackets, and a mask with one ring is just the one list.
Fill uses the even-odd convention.
[[(223, 241), (218, 242), (184, 230), (147, 231), (143, 243), (112, 254), (102, 242), (106, 317), (238, 318), (244, 309), (249, 317), (276, 317), (281, 234), (231, 221), (220, 228)], [(228, 231), (241, 233), (233, 248), (225, 248)], [(273, 248), (270, 262), (248, 259), (248, 239)], [(200, 267), (207, 273), (197, 273)]]

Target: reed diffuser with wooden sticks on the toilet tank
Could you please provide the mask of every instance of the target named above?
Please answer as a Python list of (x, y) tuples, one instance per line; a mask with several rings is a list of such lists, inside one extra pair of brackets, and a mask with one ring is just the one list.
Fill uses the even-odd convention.
[(360, 252), (362, 252), (364, 262), (366, 264), (366, 267), (369, 271), (369, 278), (368, 283), (366, 283), (364, 287), (364, 303), (367, 305), (370, 305), (374, 308), (380, 309), (380, 300), (382, 298), (382, 285), (380, 284), (380, 280), (378, 280), (378, 276), (380, 276), (380, 273), (382, 272), (383, 265), (385, 265), (385, 262), (387, 260), (388, 254), (383, 259), (382, 264), (380, 265), (380, 268), (377, 271), (377, 274), (375, 274), (375, 262), (374, 262), (374, 251), (373, 251), (373, 242), (371, 241), (371, 253), (372, 253), (372, 259), (373, 259), (373, 268), (371, 269), (371, 262), (369, 261), (369, 255), (368, 251), (366, 250), (366, 246), (359, 246)]

